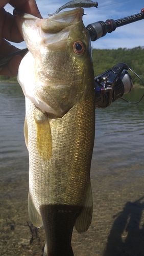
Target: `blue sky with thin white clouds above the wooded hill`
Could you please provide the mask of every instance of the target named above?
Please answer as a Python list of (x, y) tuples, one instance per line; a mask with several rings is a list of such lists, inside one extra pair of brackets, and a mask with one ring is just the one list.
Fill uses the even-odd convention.
[[(38, 9), (43, 18), (48, 13), (54, 13), (69, 0), (36, 0)], [(95, 0), (93, 1), (95, 2)], [(143, 0), (98, 0), (98, 8), (84, 8), (87, 15), (83, 16), (84, 25), (99, 22), (107, 19), (119, 19), (141, 12), (144, 8)], [(13, 8), (8, 4), (5, 9), (13, 12)], [(68, 10), (68, 9), (65, 9)], [(24, 42), (13, 44), (18, 48), (25, 48)], [(95, 49), (117, 49), (117, 48), (134, 48), (144, 46), (144, 19), (116, 28), (112, 33), (107, 33), (104, 37), (91, 42), (92, 48)]]

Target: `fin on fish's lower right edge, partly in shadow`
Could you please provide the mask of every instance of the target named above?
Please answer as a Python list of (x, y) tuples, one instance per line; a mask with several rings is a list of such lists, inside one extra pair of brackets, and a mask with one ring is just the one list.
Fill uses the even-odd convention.
[(83, 233), (87, 231), (91, 224), (91, 218), (92, 218), (92, 191), (91, 191), (91, 184), (89, 181), (89, 186), (87, 190), (87, 195), (85, 199), (85, 203), (83, 206), (82, 211), (80, 212), (80, 215), (76, 219), (75, 222), (75, 228), (79, 233)]

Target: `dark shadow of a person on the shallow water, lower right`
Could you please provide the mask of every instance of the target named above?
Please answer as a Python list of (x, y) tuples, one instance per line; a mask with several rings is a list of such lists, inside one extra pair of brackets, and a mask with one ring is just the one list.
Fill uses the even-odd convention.
[(127, 202), (113, 223), (104, 256), (143, 256), (144, 225), (140, 225), (144, 202)]

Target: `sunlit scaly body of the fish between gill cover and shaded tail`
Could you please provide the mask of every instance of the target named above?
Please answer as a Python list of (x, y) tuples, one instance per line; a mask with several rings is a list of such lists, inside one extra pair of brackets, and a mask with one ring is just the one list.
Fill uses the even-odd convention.
[[(92, 104), (89, 104), (91, 108), (90, 110), (90, 108), (87, 108), (87, 104), (84, 101), (83, 108), (81, 103), (80, 105), (72, 108), (66, 115), (63, 116), (63, 118), (49, 119), (51, 135), (53, 138), (52, 158), (49, 161), (43, 161), (39, 157), (39, 153), (36, 151), (36, 123), (32, 118), (32, 116), (35, 115), (36, 108), (30, 100), (26, 99), (26, 102), (27, 101), (29, 101), (29, 104), (26, 104), (28, 108), (28, 111), (26, 109), (26, 116), (28, 122), (28, 131), (30, 131), (28, 140), (30, 157), (30, 191), (33, 190), (33, 193), (37, 194), (37, 196), (35, 196), (36, 203), (39, 198), (38, 190), (40, 190), (42, 193), (39, 200), (40, 202), (42, 201), (43, 204), (71, 204), (73, 200), (74, 204), (77, 204), (76, 200), (79, 200), (78, 203), (80, 203), (83, 198), (84, 191), (82, 190), (81, 192), (81, 198), (78, 198), (76, 193), (78, 190), (77, 186), (82, 188), (83, 184), (85, 183), (84, 179), (87, 180), (87, 177), (89, 177), (89, 172), (87, 172), (87, 170), (89, 169), (90, 171), (91, 154), (87, 155), (87, 152), (92, 152), (93, 148), (91, 140), (93, 140), (94, 132), (93, 129), (91, 129), (90, 123), (92, 125), (94, 124), (94, 115), (91, 117), (90, 112), (93, 112), (92, 108), (94, 108), (94, 105), (92, 106)], [(86, 111), (84, 107), (86, 108)], [(45, 169), (47, 169), (46, 173)], [(63, 169), (61, 180), (59, 175), (60, 169)], [(53, 175), (54, 172), (56, 172), (56, 176)], [(32, 177), (31, 173), (33, 174)], [(43, 173), (45, 173), (45, 175), (43, 175)], [(67, 183), (69, 181), (69, 186), (67, 188), (67, 192), (65, 192), (65, 195), (63, 195), (61, 198), (58, 188), (59, 186), (61, 187), (65, 181), (67, 181)], [(39, 189), (39, 185), (41, 186), (41, 184), (45, 184), (45, 182), (47, 182), (47, 187), (44, 187), (43, 191)], [(32, 187), (34, 186), (35, 189), (31, 188), (31, 185)], [(65, 187), (67, 187), (67, 184), (65, 184)], [(55, 189), (58, 190), (57, 194)], [(47, 201), (43, 201), (44, 194), (46, 195), (45, 198)], [(72, 198), (74, 199), (72, 200)]]

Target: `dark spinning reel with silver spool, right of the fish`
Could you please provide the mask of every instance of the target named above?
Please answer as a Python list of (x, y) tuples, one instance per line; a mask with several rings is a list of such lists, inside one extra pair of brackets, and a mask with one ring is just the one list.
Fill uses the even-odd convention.
[[(134, 71), (132, 71), (128, 65), (125, 63), (118, 63), (112, 69), (109, 69), (103, 74), (94, 78), (95, 108), (107, 108), (112, 102), (122, 98), (124, 94), (132, 91), (133, 80), (127, 70), (134, 73), (144, 86), (141, 78)], [(140, 100), (143, 98), (143, 96), (144, 94)], [(140, 100), (137, 102), (125, 101), (131, 104), (136, 104)]]

